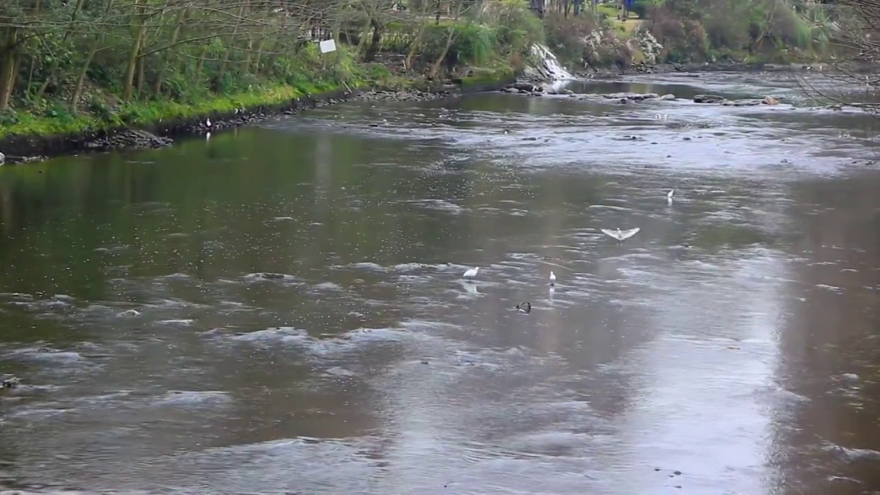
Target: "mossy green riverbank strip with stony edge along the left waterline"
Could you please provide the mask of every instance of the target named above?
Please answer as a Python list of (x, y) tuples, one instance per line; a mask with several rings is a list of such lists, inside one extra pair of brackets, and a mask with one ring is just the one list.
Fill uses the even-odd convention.
[[(512, 72), (481, 73), (445, 84), (423, 80), (327, 87), (317, 93), (293, 86), (261, 90), (205, 100), (194, 106), (173, 102), (134, 104), (99, 122), (93, 115), (58, 119), (27, 115), (26, 120), (4, 129), (0, 152), (6, 164), (40, 161), (59, 155), (90, 151), (154, 149), (173, 144), (181, 137), (206, 135), (278, 115), (295, 115), (314, 107), (349, 100), (426, 101), (450, 98), (465, 92), (501, 89), (515, 80)], [(130, 123), (123, 123), (130, 122)], [(74, 130), (84, 129), (84, 130)]]

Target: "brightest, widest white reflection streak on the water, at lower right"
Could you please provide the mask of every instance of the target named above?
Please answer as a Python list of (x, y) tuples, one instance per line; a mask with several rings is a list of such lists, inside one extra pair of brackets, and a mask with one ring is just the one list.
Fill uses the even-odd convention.
[(660, 335), (624, 358), (643, 395), (621, 418), (622, 450), (632, 469), (661, 469), (657, 477), (621, 473), (630, 492), (657, 484), (707, 494), (770, 489), (774, 410), (766, 400), (779, 360), (785, 262), (764, 254), (724, 264), (709, 283), (688, 282), (687, 269), (660, 274), (678, 287), (656, 292)]

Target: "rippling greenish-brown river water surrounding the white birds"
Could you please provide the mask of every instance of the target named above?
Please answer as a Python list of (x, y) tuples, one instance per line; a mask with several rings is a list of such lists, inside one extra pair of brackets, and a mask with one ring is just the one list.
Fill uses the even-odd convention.
[[(801, 101), (652, 78), (571, 88)], [(880, 491), (872, 125), (488, 93), (4, 167), (0, 488)]]

